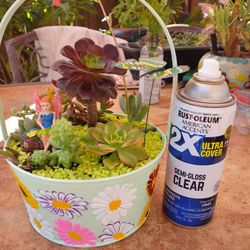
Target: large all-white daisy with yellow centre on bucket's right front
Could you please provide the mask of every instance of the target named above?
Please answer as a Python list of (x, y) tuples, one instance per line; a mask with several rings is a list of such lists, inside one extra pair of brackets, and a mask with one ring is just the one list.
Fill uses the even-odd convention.
[(133, 206), (136, 190), (133, 184), (105, 188), (105, 191), (100, 192), (92, 201), (91, 207), (96, 219), (107, 225), (126, 216), (128, 209)]

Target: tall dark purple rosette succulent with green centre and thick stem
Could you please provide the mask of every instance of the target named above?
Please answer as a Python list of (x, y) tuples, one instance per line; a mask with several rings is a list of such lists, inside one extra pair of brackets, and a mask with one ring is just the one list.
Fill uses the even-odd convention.
[[(126, 73), (126, 70), (114, 66), (119, 60), (118, 50), (111, 44), (102, 48), (91, 39), (82, 38), (75, 43), (74, 48), (63, 47), (61, 54), (69, 60), (59, 60), (53, 64), (52, 69), (62, 75), (56, 85), (87, 106), (90, 111), (88, 119), (92, 120), (89, 125), (94, 126), (97, 118), (96, 102), (106, 103), (110, 98), (117, 97), (115, 80), (109, 74)], [(90, 117), (90, 113), (96, 118)]]

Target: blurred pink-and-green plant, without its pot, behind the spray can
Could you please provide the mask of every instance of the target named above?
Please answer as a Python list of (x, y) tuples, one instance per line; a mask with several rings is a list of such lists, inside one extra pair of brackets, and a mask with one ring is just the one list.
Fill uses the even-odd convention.
[(215, 33), (224, 55), (240, 57), (250, 51), (250, 0), (219, 0), (199, 3), (207, 25), (204, 33)]

